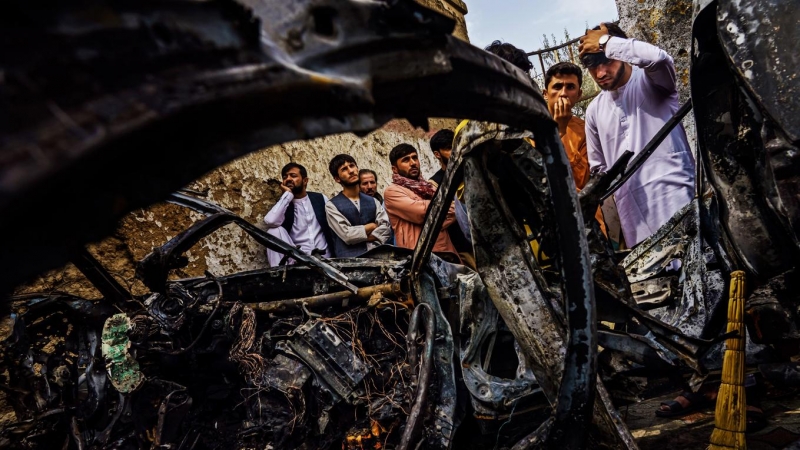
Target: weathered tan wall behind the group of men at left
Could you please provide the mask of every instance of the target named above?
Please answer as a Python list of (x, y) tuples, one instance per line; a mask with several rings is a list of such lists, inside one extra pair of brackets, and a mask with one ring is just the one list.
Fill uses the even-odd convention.
[[(420, 3), (441, 11), (457, 21), (456, 36), (467, 39), (463, 14), (466, 6), (460, 0), (420, 0)], [(308, 169), (309, 189), (333, 196), (340, 190), (328, 172), (334, 155), (348, 153), (361, 168), (378, 173), (382, 192), (391, 180), (389, 151), (397, 144), (409, 143), (420, 150), (422, 172), (430, 177), (439, 169), (428, 140), (441, 128), (454, 128), (454, 120), (430, 120), (430, 132), (413, 128), (406, 121), (392, 121), (370, 135), (359, 138), (346, 133), (302, 142), (290, 142), (264, 149), (220, 167), (188, 188), (205, 192), (206, 198), (241, 215), (249, 222), (264, 227), (263, 217), (278, 199), (281, 190), (280, 169), (294, 161)], [(146, 289), (134, 277), (136, 262), (202, 216), (170, 204), (157, 204), (134, 211), (120, 221), (113, 236), (89, 245), (89, 251), (134, 294)], [(226, 275), (243, 270), (267, 267), (263, 247), (257, 245), (238, 227), (228, 225), (201, 241), (188, 254), (189, 265), (176, 271), (174, 277), (202, 276), (207, 270)], [(18, 290), (24, 292), (63, 291), (86, 298), (99, 298), (97, 292), (71, 264), (44, 274)]]

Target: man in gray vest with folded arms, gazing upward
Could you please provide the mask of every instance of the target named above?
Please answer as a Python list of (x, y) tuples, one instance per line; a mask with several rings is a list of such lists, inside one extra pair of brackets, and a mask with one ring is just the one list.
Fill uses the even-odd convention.
[(342, 192), (325, 205), (331, 243), (337, 258), (352, 258), (389, 241), (392, 227), (381, 203), (361, 192), (358, 164), (350, 155), (336, 155), (328, 165)]

